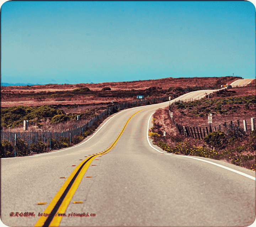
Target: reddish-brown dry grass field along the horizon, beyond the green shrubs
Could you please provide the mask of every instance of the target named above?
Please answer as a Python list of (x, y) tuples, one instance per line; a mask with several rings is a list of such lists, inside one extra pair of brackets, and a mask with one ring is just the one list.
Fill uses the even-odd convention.
[[(10, 106), (42, 106), (49, 105), (104, 105), (114, 102), (131, 101), (142, 90), (159, 87), (167, 90), (170, 87), (187, 88), (196, 86), (219, 86), (230, 84), (239, 77), (193, 77), (164, 78), (145, 81), (112, 82), (112, 83), (80, 83), (80, 84), (47, 84), (33, 86), (1, 87), (1, 107)], [(109, 87), (111, 91), (101, 91)], [(89, 88), (90, 92), (74, 92), (77, 88)], [(163, 96), (163, 92), (155, 96)]]

